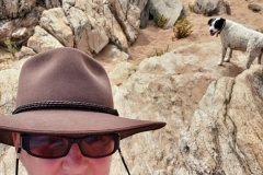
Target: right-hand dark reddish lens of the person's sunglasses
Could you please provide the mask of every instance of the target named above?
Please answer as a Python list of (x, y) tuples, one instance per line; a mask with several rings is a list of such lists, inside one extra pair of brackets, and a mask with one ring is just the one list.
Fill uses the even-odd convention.
[(82, 153), (85, 156), (103, 158), (116, 151), (114, 136), (88, 136), (80, 142)]

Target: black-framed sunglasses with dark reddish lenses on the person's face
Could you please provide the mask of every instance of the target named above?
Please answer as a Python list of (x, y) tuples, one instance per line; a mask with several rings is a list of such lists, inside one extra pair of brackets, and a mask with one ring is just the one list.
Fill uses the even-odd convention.
[(22, 148), (30, 154), (42, 159), (66, 156), (73, 143), (79, 145), (87, 158), (112, 155), (119, 148), (119, 135), (91, 135), (80, 138), (45, 135), (21, 135)]

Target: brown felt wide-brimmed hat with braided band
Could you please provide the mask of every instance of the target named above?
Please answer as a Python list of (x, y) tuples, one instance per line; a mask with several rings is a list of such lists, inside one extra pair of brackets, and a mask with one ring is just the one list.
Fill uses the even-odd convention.
[(0, 116), (0, 142), (12, 132), (45, 135), (119, 133), (159, 129), (165, 122), (119, 117), (104, 68), (69, 47), (37, 54), (22, 67), (12, 115)]

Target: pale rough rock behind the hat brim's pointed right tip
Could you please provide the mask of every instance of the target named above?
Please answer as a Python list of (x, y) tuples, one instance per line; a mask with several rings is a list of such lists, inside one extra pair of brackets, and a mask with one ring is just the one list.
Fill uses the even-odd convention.
[[(180, 167), (178, 138), (187, 128), (202, 92), (210, 82), (205, 72), (178, 74), (180, 58), (188, 63), (197, 61), (172, 52), (147, 58), (126, 81), (113, 86), (115, 106), (121, 116), (168, 122), (162, 130), (133, 136), (122, 142), (126, 162), (135, 174), (174, 174)], [(119, 69), (119, 72), (124, 70)], [(163, 144), (165, 142), (169, 144)], [(113, 167), (123, 166), (122, 161), (115, 159)], [(112, 174), (125, 174), (125, 170), (113, 168)]]

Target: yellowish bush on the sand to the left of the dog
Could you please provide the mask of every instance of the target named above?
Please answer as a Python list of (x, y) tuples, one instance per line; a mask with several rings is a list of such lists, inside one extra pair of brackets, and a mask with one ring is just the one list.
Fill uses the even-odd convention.
[(185, 18), (181, 18), (173, 26), (174, 38), (181, 39), (187, 37), (192, 31), (193, 24)]

